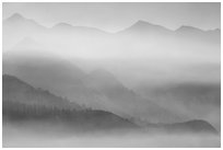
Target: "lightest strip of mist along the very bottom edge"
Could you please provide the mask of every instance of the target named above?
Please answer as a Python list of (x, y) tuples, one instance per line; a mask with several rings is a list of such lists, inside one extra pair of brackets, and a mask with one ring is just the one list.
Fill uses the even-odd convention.
[[(11, 135), (12, 136), (12, 135)], [(157, 135), (157, 136), (82, 136), (69, 138), (46, 138), (45, 136), (38, 137), (35, 135), (26, 135), (21, 137), (22, 134), (16, 132), (11, 137), (4, 132), (3, 147), (220, 147), (220, 137), (202, 137), (202, 136), (178, 136), (178, 135)], [(139, 136), (139, 137), (138, 137)]]

